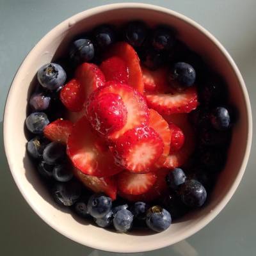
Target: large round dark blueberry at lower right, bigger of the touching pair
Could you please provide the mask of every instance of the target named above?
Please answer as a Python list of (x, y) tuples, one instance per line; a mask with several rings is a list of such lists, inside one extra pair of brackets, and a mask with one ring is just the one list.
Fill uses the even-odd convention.
[(201, 207), (205, 203), (207, 193), (197, 180), (186, 180), (180, 187), (180, 197), (188, 207)]

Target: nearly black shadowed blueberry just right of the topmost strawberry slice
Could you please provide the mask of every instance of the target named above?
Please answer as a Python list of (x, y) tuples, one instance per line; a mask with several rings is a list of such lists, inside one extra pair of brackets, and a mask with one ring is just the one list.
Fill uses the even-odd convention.
[(163, 52), (157, 52), (152, 48), (145, 48), (140, 52), (140, 59), (145, 67), (150, 70), (156, 70), (163, 66), (166, 61), (166, 56)]

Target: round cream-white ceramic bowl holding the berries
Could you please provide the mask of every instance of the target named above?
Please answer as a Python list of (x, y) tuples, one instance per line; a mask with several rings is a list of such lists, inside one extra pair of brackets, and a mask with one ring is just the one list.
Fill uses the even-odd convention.
[[(38, 179), (26, 154), (24, 120), (31, 81), (45, 63), (60, 56), (70, 39), (100, 23), (118, 23), (143, 19), (148, 24), (159, 22), (173, 26), (179, 36), (192, 49), (200, 52), (227, 80), (232, 102), (239, 109), (240, 118), (234, 127), (232, 143), (225, 170), (211, 195), (210, 203), (179, 223), (173, 223), (159, 234), (130, 232), (118, 234), (77, 221), (63, 211), (47, 193)], [(195, 234), (223, 209), (236, 191), (243, 176), (252, 142), (252, 113), (243, 78), (223, 46), (204, 28), (191, 19), (171, 10), (148, 4), (123, 3), (100, 6), (78, 13), (61, 22), (36, 44), (20, 66), (13, 80), (4, 111), (4, 147), (10, 170), (20, 192), (33, 210), (52, 228), (76, 241), (100, 250), (111, 252), (145, 252), (177, 243)]]

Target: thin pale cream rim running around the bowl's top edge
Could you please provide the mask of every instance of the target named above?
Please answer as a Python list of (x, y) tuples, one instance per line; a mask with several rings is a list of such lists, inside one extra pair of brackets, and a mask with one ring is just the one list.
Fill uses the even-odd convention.
[[(64, 27), (67, 27), (70, 22), (73, 22), (72, 20), (82, 20), (84, 17), (89, 16), (89, 15), (95, 15), (98, 13), (103, 13), (107, 12), (109, 10), (118, 10), (118, 9), (124, 9), (124, 8), (138, 8), (138, 9), (147, 9), (147, 10), (154, 10), (157, 12), (163, 12), (168, 15), (172, 15), (173, 17), (180, 19), (184, 22), (187, 22), (190, 26), (193, 26), (194, 28), (198, 29), (201, 33), (203, 33), (207, 38), (211, 40), (211, 42), (220, 50), (221, 54), (225, 57), (225, 59), (228, 61), (232, 69), (234, 70), (237, 81), (239, 81), (239, 84), (241, 86), (241, 89), (243, 91), (243, 97), (244, 97), (244, 102), (246, 102), (246, 115), (247, 115), (247, 120), (248, 120), (248, 131), (247, 131), (247, 141), (246, 141), (246, 150), (244, 151), (244, 157), (243, 157), (243, 162), (241, 163), (241, 168), (239, 172), (237, 173), (237, 177), (234, 180), (234, 183), (228, 190), (228, 193), (221, 199), (218, 205), (214, 208), (213, 211), (209, 212), (207, 216), (204, 216), (202, 220), (200, 220), (194, 227), (188, 228), (186, 232), (182, 233), (179, 237), (176, 237), (172, 239), (172, 242), (166, 240), (163, 241), (163, 243), (154, 243), (154, 244), (148, 244), (147, 248), (116, 248), (115, 244), (109, 244), (108, 246), (101, 246), (100, 243), (97, 243), (93, 241), (93, 243), (86, 243), (82, 239), (79, 239), (79, 237), (74, 237), (68, 234), (67, 231), (65, 231), (65, 228), (60, 228), (57, 225), (55, 225), (54, 221), (51, 221), (51, 218), (47, 218), (43, 216), (40, 211), (38, 211), (35, 202), (31, 201), (29, 199), (29, 196), (26, 195), (26, 193), (23, 191), (22, 186), (19, 182), (18, 176), (15, 173), (15, 170), (13, 168), (12, 164), (12, 152), (10, 152), (10, 148), (8, 147), (8, 140), (6, 134), (8, 133), (8, 127), (6, 125), (6, 120), (8, 119), (8, 113), (9, 113), (9, 104), (10, 104), (10, 99), (12, 95), (12, 89), (13, 89), (13, 84), (15, 84), (15, 81), (17, 77), (19, 77), (20, 70), (22, 70), (22, 67), (24, 66), (24, 63), (28, 61), (29, 56), (31, 56), (38, 48), (41, 47), (41, 45), (44, 45), (46, 41), (50, 40), (52, 37), (54, 37), (56, 34), (58, 34), (58, 31), (63, 29)], [(102, 6), (97, 6), (95, 8), (90, 8), (88, 10), (85, 10), (83, 12), (77, 13), (76, 15), (73, 15), (72, 17), (69, 17), (68, 19), (64, 20), (57, 26), (51, 29), (40, 41), (31, 49), (31, 51), (28, 53), (28, 55), (24, 58), (22, 61), (19, 69), (17, 70), (15, 77), (13, 78), (12, 84), (10, 86), (10, 89), (8, 91), (8, 96), (6, 98), (6, 103), (4, 106), (4, 118), (3, 118), (3, 138), (4, 138), (4, 151), (6, 153), (6, 158), (10, 167), (10, 171), (12, 173), (13, 179), (15, 180), (15, 183), (17, 184), (17, 187), (20, 190), (20, 193), (22, 193), (22, 196), (25, 198), (26, 202), (30, 205), (30, 207), (33, 209), (33, 211), (42, 218), (42, 220), (45, 221), (49, 226), (54, 228), (54, 230), (58, 231), (60, 234), (63, 236), (68, 237), (69, 239), (72, 239), (73, 241), (76, 241), (77, 243), (83, 244), (85, 246), (89, 246), (91, 248), (99, 249), (99, 250), (104, 250), (108, 252), (118, 252), (118, 253), (132, 253), (132, 252), (147, 252), (150, 250), (157, 250), (160, 248), (164, 248), (166, 246), (170, 246), (171, 244), (178, 243), (179, 241), (182, 241), (183, 239), (186, 239), (187, 237), (195, 234), (198, 232), (200, 229), (205, 227), (210, 221), (212, 221), (219, 213), (220, 211), (225, 207), (225, 205), (228, 203), (232, 195), (234, 195), (242, 177), (244, 174), (244, 171), (246, 169), (246, 164), (248, 162), (248, 158), (250, 155), (250, 148), (252, 146), (252, 109), (250, 105), (250, 99), (248, 96), (248, 92), (246, 90), (246, 86), (243, 81), (243, 77), (241, 76), (241, 73), (239, 72), (239, 69), (236, 66), (236, 63), (228, 54), (227, 50), (223, 47), (223, 45), (220, 44), (220, 42), (213, 36), (209, 31), (207, 31), (205, 28), (200, 26), (198, 23), (196, 23), (194, 20), (189, 19), (185, 15), (182, 15), (178, 12), (175, 12), (173, 10), (170, 10), (168, 8), (164, 8), (161, 6), (156, 6), (153, 4), (144, 4), (144, 3), (115, 3), (115, 4), (106, 4)]]

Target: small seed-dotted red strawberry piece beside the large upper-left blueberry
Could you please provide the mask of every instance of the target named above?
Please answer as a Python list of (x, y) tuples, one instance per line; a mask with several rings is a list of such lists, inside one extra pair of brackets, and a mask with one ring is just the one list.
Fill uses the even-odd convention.
[(60, 100), (70, 111), (78, 112), (83, 108), (85, 95), (77, 79), (70, 80), (60, 92)]

